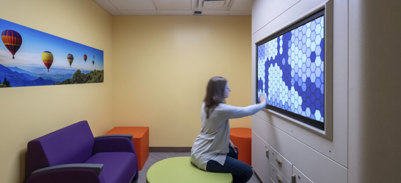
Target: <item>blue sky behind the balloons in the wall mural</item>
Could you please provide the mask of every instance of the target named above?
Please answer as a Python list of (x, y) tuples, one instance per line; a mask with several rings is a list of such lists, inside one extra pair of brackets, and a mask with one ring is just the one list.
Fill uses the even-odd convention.
[[(69, 31), (67, 25), (65, 29), (65, 31)], [(43, 71), (46, 71), (47, 74), (64, 74), (61, 71), (63, 69), (66, 72), (68, 70), (75, 72), (77, 69), (81, 71), (103, 70), (102, 50), (0, 19), (0, 32), (3, 30), (15, 30), (22, 37), (22, 44), (14, 55), (15, 59), (12, 59), (12, 54), (3, 43), (0, 45), (0, 64), (4, 66), (17, 66), (37, 74), (39, 74), (38, 72), (43, 73)], [(49, 72), (42, 60), (44, 51), (51, 52), (54, 57)], [(71, 67), (67, 60), (67, 54), (74, 56)], [(87, 55), (86, 62), (83, 58), (84, 54)], [(92, 64), (92, 60), (95, 61), (95, 64)]]

